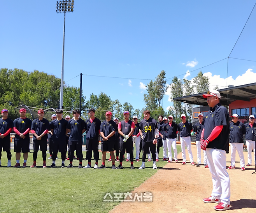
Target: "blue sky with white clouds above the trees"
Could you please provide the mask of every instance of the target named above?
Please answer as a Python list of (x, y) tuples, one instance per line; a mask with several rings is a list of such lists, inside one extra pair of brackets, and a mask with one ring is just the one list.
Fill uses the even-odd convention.
[[(64, 14), (56, 13), (56, 1), (0, 2), (0, 67), (61, 77)], [(154, 79), (165, 70), (168, 84), (177, 75), (191, 80), (199, 70), (184, 73), (227, 58), (254, 4), (251, 0), (75, 0), (74, 12), (66, 14), (64, 80), (79, 87), (80, 77), (74, 77), (87, 74), (82, 86), (86, 100), (102, 91), (141, 110), (149, 80), (134, 79)], [(255, 19), (256, 9), (230, 57), (256, 61)], [(228, 84), (255, 82), (254, 66), (256, 62), (230, 58)], [(202, 72), (210, 77), (211, 86), (223, 89), (227, 59)], [(172, 105), (168, 98), (167, 92), (165, 109)]]

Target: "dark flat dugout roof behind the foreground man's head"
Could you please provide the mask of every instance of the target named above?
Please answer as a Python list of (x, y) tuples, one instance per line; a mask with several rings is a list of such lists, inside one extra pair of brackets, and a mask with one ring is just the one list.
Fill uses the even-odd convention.
[[(244, 84), (241, 86), (225, 89), (218, 89), (218, 91), (221, 94), (221, 105), (228, 105), (229, 103), (236, 100), (251, 101), (252, 99), (256, 98), (256, 83)], [(174, 98), (174, 101), (208, 106), (206, 99), (203, 98), (203, 94), (205, 93), (182, 96), (179, 98)]]

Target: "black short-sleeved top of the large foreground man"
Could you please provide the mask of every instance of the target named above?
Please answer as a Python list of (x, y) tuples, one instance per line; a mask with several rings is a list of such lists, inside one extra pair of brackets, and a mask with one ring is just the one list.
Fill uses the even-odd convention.
[(226, 107), (218, 103), (207, 112), (204, 121), (203, 139), (206, 140), (214, 127), (223, 126), (221, 133), (209, 143), (207, 148), (222, 149), (228, 153), (229, 148), (229, 114)]

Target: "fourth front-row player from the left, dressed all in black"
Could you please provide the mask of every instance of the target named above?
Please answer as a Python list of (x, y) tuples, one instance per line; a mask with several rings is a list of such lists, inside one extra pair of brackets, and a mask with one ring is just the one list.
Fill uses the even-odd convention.
[(53, 133), (53, 163), (51, 168), (56, 167), (56, 156), (61, 153), (61, 168), (65, 168), (65, 158), (67, 153), (66, 134), (68, 133), (67, 120), (62, 118), (63, 110), (56, 110), (57, 119), (50, 124), (51, 132)]

